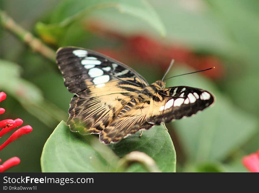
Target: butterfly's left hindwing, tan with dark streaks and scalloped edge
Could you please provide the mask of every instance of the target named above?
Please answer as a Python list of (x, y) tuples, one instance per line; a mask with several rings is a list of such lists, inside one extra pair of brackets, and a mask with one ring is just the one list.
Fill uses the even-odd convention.
[(99, 134), (130, 101), (130, 97), (120, 93), (91, 98), (72, 98), (67, 125), (72, 131), (82, 135)]

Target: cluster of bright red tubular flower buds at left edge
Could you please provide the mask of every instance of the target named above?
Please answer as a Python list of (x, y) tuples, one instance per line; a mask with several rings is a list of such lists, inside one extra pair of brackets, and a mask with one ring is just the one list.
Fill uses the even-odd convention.
[[(0, 92), (0, 102), (6, 99), (6, 94), (4, 92)], [(0, 114), (3, 114), (5, 112), (4, 108), (0, 108)], [(0, 121), (0, 137), (2, 137), (4, 134), (10, 132), (16, 127), (19, 127), (23, 124), (23, 120), (21, 119), (6, 119)], [(0, 150), (4, 149), (6, 145), (13, 142), (14, 140), (18, 139), (24, 134), (27, 134), (32, 131), (32, 127), (30, 125), (23, 126), (16, 130), (2, 145), (0, 145)], [(1, 159), (0, 159), (1, 162)], [(0, 165), (0, 172), (4, 172), (6, 169), (9, 169), (10, 167), (13, 167), (15, 165), (18, 165), (20, 163), (20, 159), (18, 157), (12, 157), (9, 160), (6, 160), (2, 165)]]

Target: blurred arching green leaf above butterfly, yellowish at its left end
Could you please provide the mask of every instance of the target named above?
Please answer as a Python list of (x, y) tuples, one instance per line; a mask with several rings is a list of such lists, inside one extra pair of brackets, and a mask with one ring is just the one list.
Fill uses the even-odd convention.
[[(165, 27), (155, 10), (145, 1), (122, 1), (122, 0), (92, 0), (92, 1), (62, 1), (52, 15), (52, 24), (38, 22), (36, 31), (41, 38), (48, 42), (57, 44), (65, 35), (71, 24), (84, 18), (87, 14), (97, 9), (115, 8), (120, 13), (129, 14), (146, 21), (153, 28), (165, 35)], [(53, 22), (54, 21), (54, 22)]]

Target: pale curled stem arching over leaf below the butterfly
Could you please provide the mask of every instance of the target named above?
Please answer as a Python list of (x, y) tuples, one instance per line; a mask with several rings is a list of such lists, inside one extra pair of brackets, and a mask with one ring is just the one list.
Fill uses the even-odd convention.
[(161, 172), (156, 162), (147, 154), (139, 151), (133, 151), (125, 155), (119, 160), (119, 167), (129, 165), (132, 162), (140, 162), (149, 172)]

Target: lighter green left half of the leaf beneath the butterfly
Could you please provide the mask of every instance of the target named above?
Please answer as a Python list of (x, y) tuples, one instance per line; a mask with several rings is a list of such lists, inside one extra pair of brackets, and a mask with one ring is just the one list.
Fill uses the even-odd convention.
[(101, 172), (95, 163), (108, 167), (89, 139), (72, 133), (64, 121), (49, 136), (41, 154), (42, 172)]

